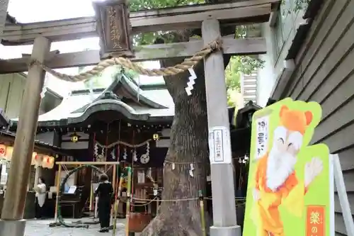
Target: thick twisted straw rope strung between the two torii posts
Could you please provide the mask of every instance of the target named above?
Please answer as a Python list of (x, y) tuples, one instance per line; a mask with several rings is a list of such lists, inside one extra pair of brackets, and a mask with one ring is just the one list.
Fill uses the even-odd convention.
[(174, 67), (162, 67), (159, 69), (145, 69), (139, 64), (132, 62), (131, 60), (124, 58), (124, 57), (113, 57), (110, 59), (103, 60), (99, 62), (93, 69), (89, 70), (88, 72), (82, 72), (76, 75), (69, 75), (69, 74), (62, 74), (56, 72), (54, 69), (50, 69), (49, 67), (42, 64), (38, 60), (32, 60), (29, 64), (29, 67), (33, 67), (33, 65), (38, 65), (42, 67), (45, 72), (52, 74), (53, 76), (57, 77), (58, 79), (62, 79), (67, 82), (81, 82), (85, 81), (93, 76), (100, 74), (103, 69), (113, 66), (115, 64), (120, 64), (127, 69), (132, 69), (135, 72), (143, 75), (147, 75), (149, 77), (159, 77), (159, 76), (171, 76), (175, 74), (179, 74), (185, 72), (186, 70), (192, 68), (200, 60), (204, 59), (207, 55), (210, 55), (212, 52), (216, 52), (220, 50), (222, 46), (222, 40), (217, 39), (209, 43), (206, 47), (202, 48), (199, 52), (196, 52), (192, 57), (187, 58), (181, 64), (176, 64)]

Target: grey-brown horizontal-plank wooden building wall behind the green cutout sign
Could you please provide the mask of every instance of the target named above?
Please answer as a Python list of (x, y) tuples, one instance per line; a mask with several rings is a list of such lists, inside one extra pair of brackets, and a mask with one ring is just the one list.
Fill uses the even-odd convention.
[[(297, 68), (282, 98), (317, 101), (323, 115), (312, 142), (341, 159), (354, 213), (354, 0), (324, 0), (295, 58)], [(336, 235), (347, 235), (336, 195)]]

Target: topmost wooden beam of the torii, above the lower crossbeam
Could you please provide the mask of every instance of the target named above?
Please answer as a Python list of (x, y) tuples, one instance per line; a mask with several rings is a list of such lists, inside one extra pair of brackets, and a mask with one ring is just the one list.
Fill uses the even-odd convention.
[[(261, 23), (269, 19), (272, 6), (279, 0), (244, 0), (228, 4), (203, 4), (177, 8), (154, 9), (130, 13), (133, 33), (200, 28), (206, 18), (215, 18), (222, 24)], [(32, 44), (42, 35), (52, 41), (94, 37), (94, 17), (72, 18), (6, 26), (3, 44)]]

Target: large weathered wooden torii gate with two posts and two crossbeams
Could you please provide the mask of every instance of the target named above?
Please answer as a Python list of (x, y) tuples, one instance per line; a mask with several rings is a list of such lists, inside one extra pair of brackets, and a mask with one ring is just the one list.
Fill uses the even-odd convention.
[[(113, 1), (108, 1), (112, 3)], [(125, 28), (125, 48), (118, 50), (118, 55), (130, 52), (131, 61), (159, 60), (171, 57), (190, 57), (200, 48), (220, 39), (220, 25), (236, 26), (241, 23), (263, 23), (273, 21), (272, 11), (277, 11), (279, 0), (244, 0), (227, 4), (203, 4), (197, 6), (181, 6), (170, 9), (153, 9), (130, 13), (130, 24), (122, 23)], [(124, 2), (122, 3), (124, 4)], [(114, 4), (113, 4), (114, 5)], [(122, 6), (123, 8), (127, 6)], [(100, 11), (98, 9), (98, 11)], [(120, 11), (118, 9), (117, 11)], [(50, 67), (78, 67), (97, 64), (100, 55), (115, 51), (112, 45), (117, 42), (105, 40), (112, 28), (107, 29), (103, 21), (110, 21), (110, 16), (101, 14), (101, 22), (96, 18), (74, 18), (62, 21), (47, 21), (10, 25), (4, 28), (1, 36), (4, 45), (33, 44), (32, 55), (12, 60), (0, 60), (0, 74), (23, 72), (28, 70), (23, 103), (21, 105), (18, 131), (8, 178), (8, 190), (0, 221), (0, 235), (24, 235), (25, 222), (23, 210), (25, 193), (30, 172), (30, 155), (33, 152), (35, 130), (38, 122), (40, 92), (44, 83), (45, 71)], [(115, 19), (118, 21), (118, 18)], [(50, 52), (53, 41), (74, 40), (97, 35), (96, 26), (100, 30), (101, 53), (95, 50), (59, 54)], [(118, 25), (117, 25), (118, 26)], [(181, 30), (185, 28), (201, 28), (202, 40), (188, 43), (171, 43), (149, 45), (133, 49), (129, 41), (132, 34), (156, 32), (160, 30)], [(122, 33), (122, 32), (120, 32)], [(112, 37), (111, 35), (109, 37)], [(118, 37), (119, 38), (119, 37)], [(108, 42), (109, 41), (109, 42)], [(122, 49), (122, 48), (120, 48)], [(251, 55), (265, 53), (263, 38), (234, 39), (222, 38), (222, 50), (229, 55)], [(103, 52), (102, 52), (103, 51)], [(211, 235), (241, 235), (236, 224), (234, 210), (233, 170), (229, 139), (229, 120), (227, 114), (227, 95), (224, 79), (224, 61), (221, 50), (213, 52), (205, 58), (205, 86), (207, 94), (207, 116), (210, 133), (210, 162), (212, 171), (212, 201), (214, 225), (210, 228)], [(133, 55), (135, 53), (135, 57)], [(28, 69), (28, 62), (32, 62)], [(33, 63), (36, 62), (36, 63)], [(48, 70), (48, 68), (46, 69)], [(220, 184), (222, 183), (222, 184)]]

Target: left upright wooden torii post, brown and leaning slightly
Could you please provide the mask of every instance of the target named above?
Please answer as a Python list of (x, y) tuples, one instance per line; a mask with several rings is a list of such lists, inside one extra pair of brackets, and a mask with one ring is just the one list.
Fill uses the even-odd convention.
[[(35, 39), (31, 59), (44, 62), (49, 51), (50, 40), (40, 36)], [(21, 104), (18, 130), (11, 159), (11, 169), (8, 175), (6, 198), (1, 212), (1, 220), (6, 220), (7, 225), (16, 225), (14, 223), (11, 224), (11, 222), (17, 222), (23, 219), (28, 176), (30, 175), (30, 164), (40, 109), (40, 93), (44, 79), (45, 72), (40, 66), (33, 64), (28, 70), (25, 83), (25, 91), (22, 99), (23, 103)], [(20, 227), (23, 227), (23, 232), (21, 232), (22, 230), (14, 232), (14, 230), (20, 230)], [(1, 232), (0, 230), (0, 235), (20, 236), (24, 234), (24, 227), (25, 223), (21, 224), (21, 226), (12, 226), (12, 228), (8, 226), (7, 231)]]

